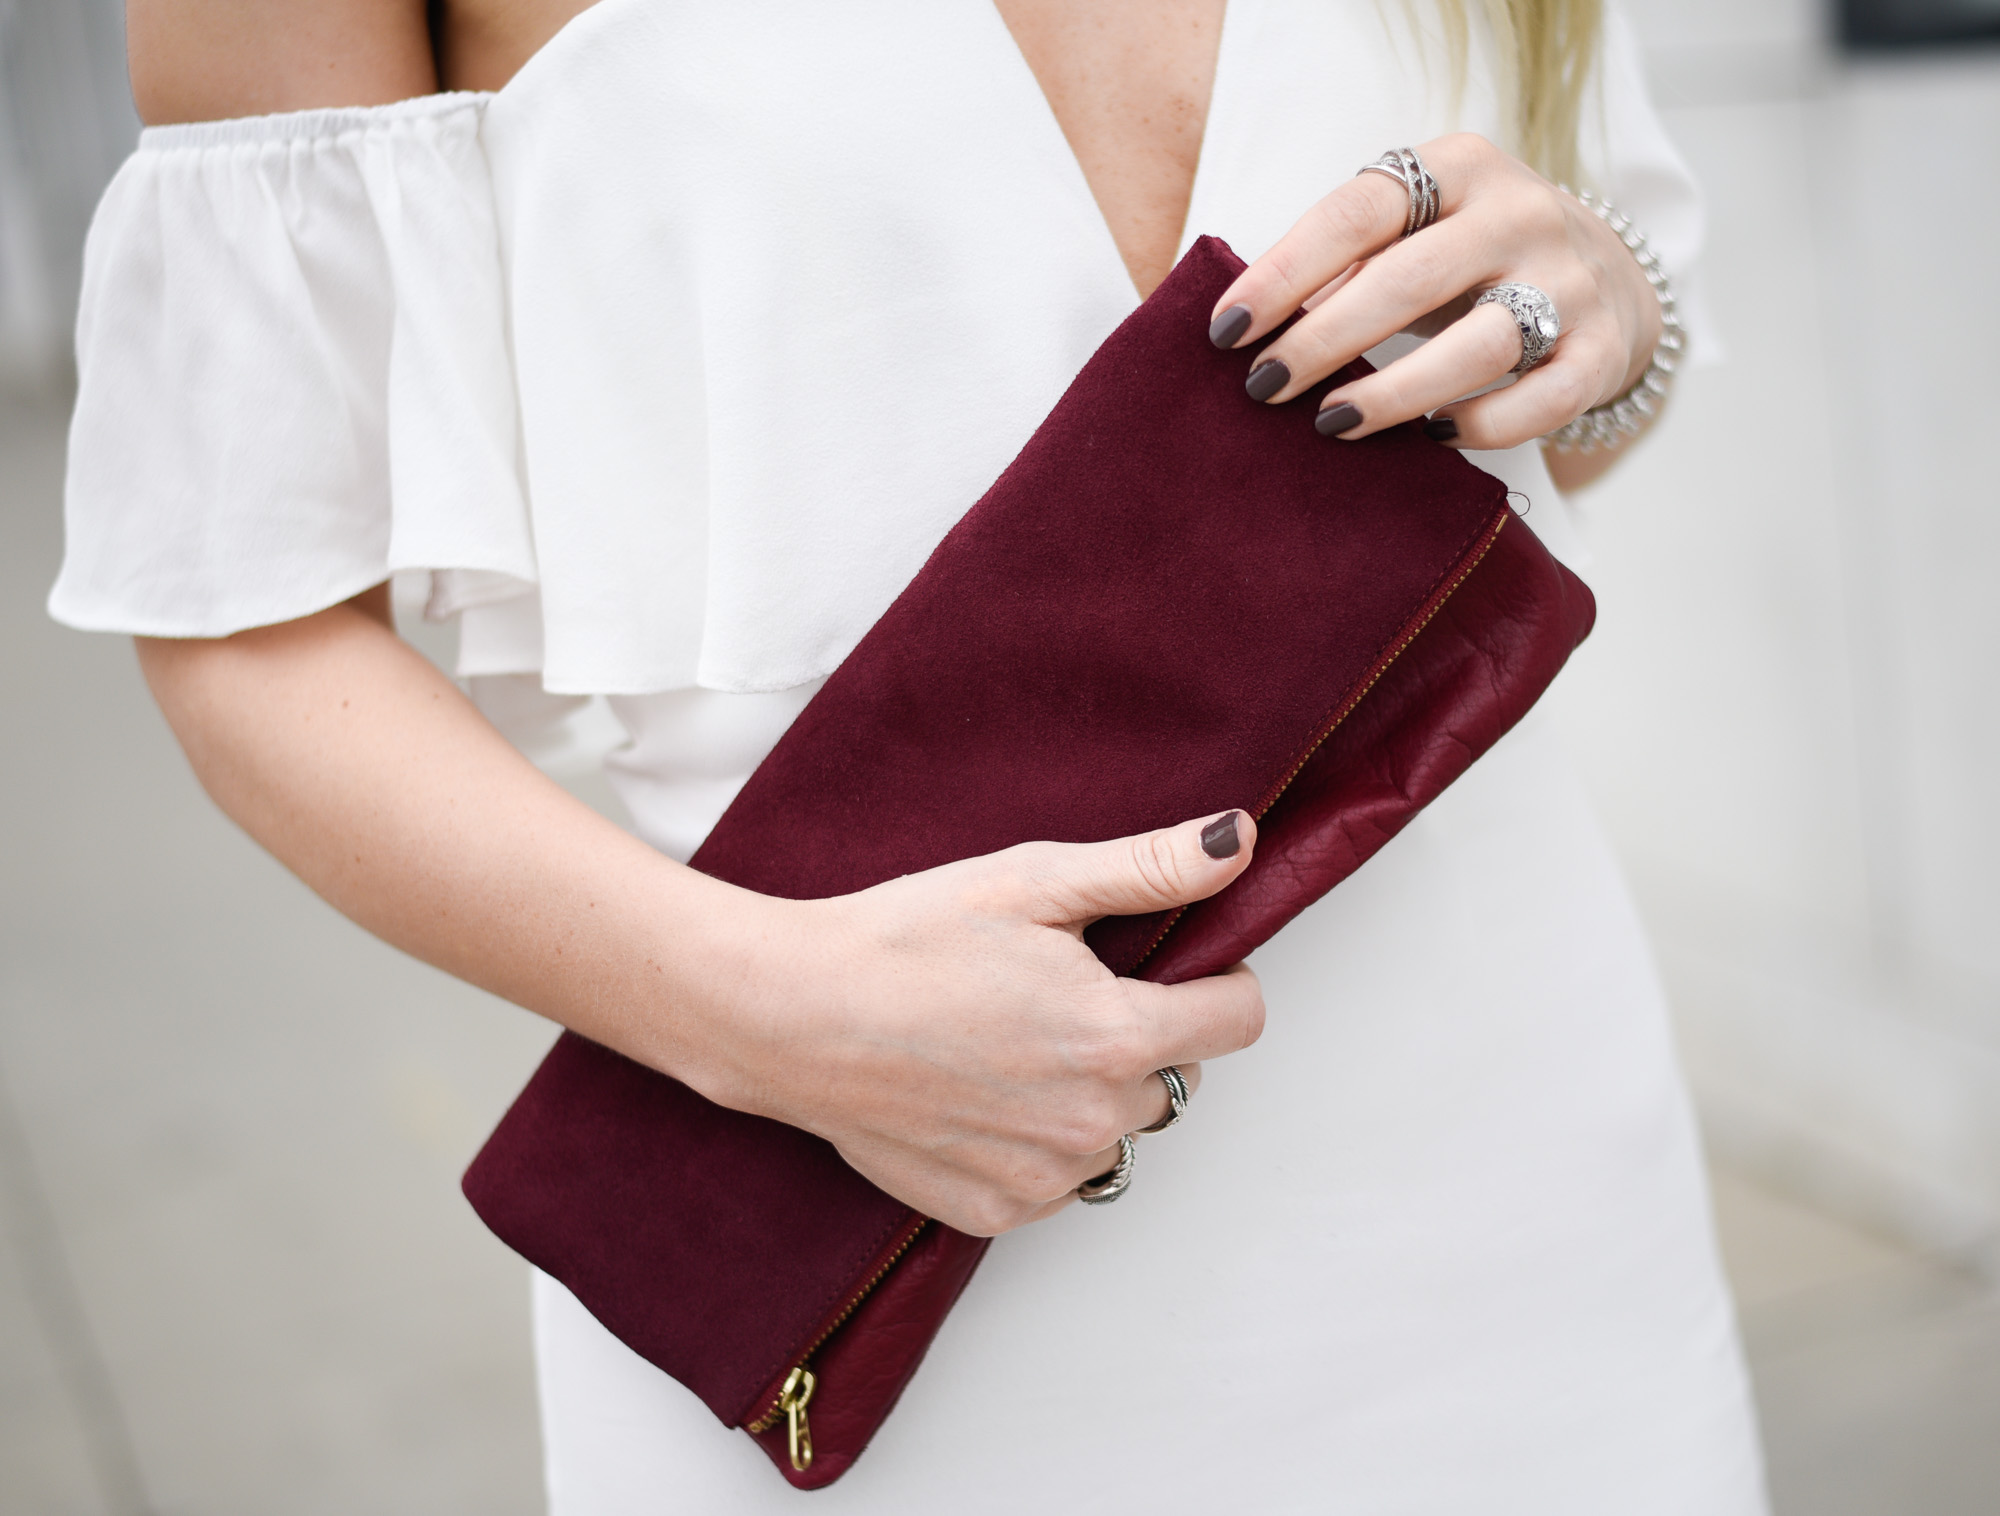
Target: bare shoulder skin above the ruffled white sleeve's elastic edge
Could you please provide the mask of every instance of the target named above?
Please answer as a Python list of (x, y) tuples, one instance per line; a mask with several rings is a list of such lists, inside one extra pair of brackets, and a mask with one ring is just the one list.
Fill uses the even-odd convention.
[(438, 88), (424, 0), (126, 0), (126, 46), (154, 126)]

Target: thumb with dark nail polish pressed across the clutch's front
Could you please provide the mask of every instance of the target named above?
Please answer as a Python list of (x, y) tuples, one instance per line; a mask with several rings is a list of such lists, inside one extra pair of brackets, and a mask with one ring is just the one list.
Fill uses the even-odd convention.
[(1250, 812), (1224, 810), (1110, 842), (1044, 846), (1042, 918), (1074, 924), (1206, 900), (1250, 866), (1256, 822)]

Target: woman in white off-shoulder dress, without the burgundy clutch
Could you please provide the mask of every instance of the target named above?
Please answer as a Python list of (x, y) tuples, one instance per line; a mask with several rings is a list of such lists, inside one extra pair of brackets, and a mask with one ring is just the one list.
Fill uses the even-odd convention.
[[(1536, 438), (1628, 394), (1662, 314), (1496, 144), (1692, 254), (1630, 38), (1590, 0), (428, 22), (132, 0), (166, 126), (92, 238), (52, 608), (136, 634), (218, 804), (390, 942), (956, 1226), (1064, 1212), (994, 1248), (816, 1508), (1760, 1510), (1658, 990), (1536, 720), (1258, 972), (1176, 988), (1078, 926), (1220, 890), (1248, 816), (812, 904), (674, 862), (1200, 232), (1260, 254), (1212, 334), (1260, 350), (1252, 400), (1416, 348), (1328, 396), (1326, 446), (1430, 414), (1574, 562)], [(1442, 202), (1410, 238), (1422, 180), (1352, 176), (1404, 142)], [(1562, 336), (1462, 400), (1536, 336), (1470, 306), (1502, 282)], [(398, 570), (516, 740), (608, 696), (644, 842), (396, 638)], [(1164, 1114), (1154, 1070), (1266, 1002), (1130, 1196), (1072, 1210)], [(536, 1344), (556, 1512), (800, 1498), (546, 1278)]]

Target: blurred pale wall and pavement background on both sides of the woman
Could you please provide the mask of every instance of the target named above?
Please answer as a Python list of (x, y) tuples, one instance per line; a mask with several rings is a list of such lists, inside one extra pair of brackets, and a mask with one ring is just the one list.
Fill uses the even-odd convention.
[[(1964, 0), (1982, 4), (1990, 0)], [(2000, 50), (1634, 0), (1728, 362), (1580, 502), (1558, 684), (1716, 1160), (1780, 1516), (2000, 1510)], [(0, 1508), (538, 1508), (456, 1176), (548, 1030), (206, 806), (50, 626), (116, 0), (0, 0)]]

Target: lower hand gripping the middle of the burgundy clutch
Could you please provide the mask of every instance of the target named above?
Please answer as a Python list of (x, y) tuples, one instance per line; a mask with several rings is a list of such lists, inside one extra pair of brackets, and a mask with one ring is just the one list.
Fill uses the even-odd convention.
[(1200, 1060), (1264, 1028), (1250, 968), (1116, 978), (1084, 926), (1202, 900), (1254, 844), (1256, 824), (1226, 812), (1114, 842), (1030, 842), (834, 900), (750, 896), (762, 906), (744, 910), (742, 992), (676, 1072), (818, 1132), (962, 1232), (1040, 1220), (1112, 1168), (1120, 1134), (1166, 1114), (1154, 1070), (1178, 1064), (1192, 1086)]

